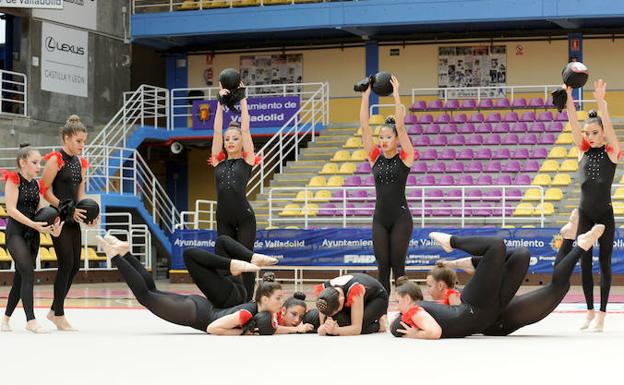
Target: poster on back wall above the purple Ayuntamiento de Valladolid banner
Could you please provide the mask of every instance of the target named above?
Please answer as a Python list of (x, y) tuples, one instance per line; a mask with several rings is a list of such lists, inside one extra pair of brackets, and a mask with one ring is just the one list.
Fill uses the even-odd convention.
[[(254, 94), (281, 93), (282, 87), (269, 85), (301, 83), (303, 81), (303, 55), (241, 56), (240, 72), (245, 85), (263, 86), (250, 90)], [(288, 86), (286, 91), (301, 92), (301, 86)]]

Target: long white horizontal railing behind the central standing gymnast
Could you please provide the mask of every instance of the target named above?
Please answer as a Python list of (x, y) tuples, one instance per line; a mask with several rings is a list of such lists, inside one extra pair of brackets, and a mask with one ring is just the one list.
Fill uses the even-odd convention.
[[(459, 225), (464, 227), (466, 223), (474, 223), (475, 221), (479, 221), (483, 223), (484, 221), (488, 224), (498, 224), (501, 226), (507, 225), (509, 222), (528, 222), (528, 223), (538, 223), (540, 227), (544, 227), (544, 211), (540, 212), (540, 215), (531, 215), (531, 216), (512, 216), (513, 211), (516, 209), (518, 203), (522, 201), (522, 197), (524, 196), (524, 191), (527, 189), (539, 189), (540, 197), (537, 202), (539, 202), (542, 207), (544, 205), (544, 189), (542, 186), (534, 186), (534, 185), (484, 185), (484, 186), (406, 186), (406, 195), (407, 201), (410, 206), (410, 211), (412, 212), (412, 217), (415, 220), (420, 222), (421, 227), (425, 227), (427, 224), (432, 223), (442, 223)], [(323, 199), (315, 199), (309, 197), (309, 193), (314, 196), (314, 193), (320, 190), (327, 190), (330, 192), (342, 192), (341, 197), (332, 197), (332, 198), (323, 198)], [(430, 190), (442, 190), (443, 192), (448, 192), (451, 190), (459, 190), (461, 191), (460, 196), (455, 197), (433, 197), (428, 196), (427, 192)], [(467, 195), (467, 191), (469, 190), (480, 190), (480, 191), (491, 191), (491, 190), (500, 190), (501, 197), (496, 200), (496, 198), (492, 197), (471, 197)], [(508, 190), (522, 190), (522, 195), (514, 197), (515, 199), (511, 199), (507, 196)], [(299, 191), (305, 191), (305, 197), (301, 200), (296, 200), (292, 195)], [(366, 197), (357, 197), (357, 196), (349, 196), (350, 192), (354, 191), (366, 191)], [(411, 196), (415, 191), (420, 191), (420, 197)], [(276, 195), (278, 194), (279, 195)], [(292, 194), (291, 196), (284, 196), (285, 193)], [(375, 202), (375, 187), (374, 186), (358, 186), (358, 187), (275, 187), (269, 190), (269, 226), (274, 226), (275, 223), (279, 224), (288, 224), (294, 223), (297, 225), (303, 225), (304, 228), (307, 228), (309, 225), (326, 225), (326, 224), (335, 224), (341, 225), (342, 227), (347, 227), (348, 224), (351, 223), (368, 223), (372, 222), (373, 210), (374, 206), (372, 203)], [(492, 204), (487, 204), (486, 202), (482, 202), (482, 200), (491, 201)], [(362, 203), (369, 202), (371, 206), (369, 207), (352, 207), (348, 206), (348, 204), (353, 203)], [(301, 214), (299, 215), (289, 215), (289, 216), (281, 216), (280, 213), (283, 211), (286, 204), (289, 203), (297, 203), (301, 205)], [(323, 209), (323, 204), (334, 204), (336, 207)], [(436, 206), (428, 206), (428, 204), (436, 203)], [(441, 203), (441, 204), (440, 204)], [(316, 204), (318, 207), (315, 209), (309, 209), (308, 204)], [(306, 209), (308, 207), (308, 209)], [(492, 215), (466, 215), (466, 210), (480, 210), (487, 209), (492, 212)], [(319, 216), (318, 212), (322, 210), (330, 210), (333, 212), (333, 215), (327, 216)], [(436, 216), (432, 214), (432, 212), (438, 210), (461, 210), (457, 214), (453, 215), (439, 215)], [(316, 213), (311, 214), (310, 211), (315, 211)], [(360, 211), (362, 215), (353, 215), (350, 212)], [(364, 211), (367, 213), (364, 214)], [(500, 211), (500, 215), (494, 215), (494, 212)]]

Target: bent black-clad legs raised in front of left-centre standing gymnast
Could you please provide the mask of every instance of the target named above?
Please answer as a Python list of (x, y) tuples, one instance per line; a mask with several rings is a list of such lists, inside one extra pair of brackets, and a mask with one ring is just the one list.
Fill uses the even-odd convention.
[(246, 302), (247, 290), (240, 278), (230, 274), (230, 261), (251, 262), (253, 252), (227, 235), (220, 235), (216, 254), (202, 249), (184, 251), (184, 263), (191, 278), (214, 306), (232, 307)]

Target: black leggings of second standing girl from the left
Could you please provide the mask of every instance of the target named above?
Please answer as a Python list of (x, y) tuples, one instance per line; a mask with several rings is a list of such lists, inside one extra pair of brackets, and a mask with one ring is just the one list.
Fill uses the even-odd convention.
[(56, 251), (58, 270), (54, 279), (54, 301), (51, 309), (54, 315), (65, 315), (65, 297), (69, 288), (80, 270), (80, 248), (82, 234), (80, 224), (65, 223), (58, 238), (52, 237), (52, 244)]

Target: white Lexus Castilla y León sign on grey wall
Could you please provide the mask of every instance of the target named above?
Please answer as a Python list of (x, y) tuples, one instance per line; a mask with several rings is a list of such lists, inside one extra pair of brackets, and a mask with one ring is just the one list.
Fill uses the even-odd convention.
[(57, 24), (41, 25), (41, 89), (88, 96), (89, 34)]

